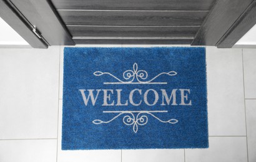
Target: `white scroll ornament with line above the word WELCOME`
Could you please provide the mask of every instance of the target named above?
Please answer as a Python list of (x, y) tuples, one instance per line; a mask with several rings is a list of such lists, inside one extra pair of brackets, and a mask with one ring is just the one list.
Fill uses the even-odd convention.
[[(123, 73), (123, 78), (125, 81), (117, 78), (116, 76), (112, 75), (109, 72), (101, 72), (101, 71), (94, 72), (94, 75), (96, 76), (101, 76), (104, 74), (110, 75), (114, 79), (118, 80), (118, 82), (104, 82), (104, 84), (167, 84), (167, 82), (152, 82), (152, 81), (157, 79), (157, 77), (159, 77), (160, 75), (165, 74), (169, 76), (174, 76), (174, 75), (177, 75), (177, 72), (174, 72), (174, 71), (162, 72), (156, 75), (153, 79), (148, 81), (142, 81), (147, 79), (148, 74), (145, 70), (138, 70), (137, 63), (134, 63), (133, 70), (126, 70)], [(134, 82), (135, 80), (137, 80), (137, 82)]]

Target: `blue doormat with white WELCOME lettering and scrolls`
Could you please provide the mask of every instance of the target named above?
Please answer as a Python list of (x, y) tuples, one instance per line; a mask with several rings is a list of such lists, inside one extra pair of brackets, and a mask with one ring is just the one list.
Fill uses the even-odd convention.
[(208, 148), (205, 48), (64, 49), (62, 150)]

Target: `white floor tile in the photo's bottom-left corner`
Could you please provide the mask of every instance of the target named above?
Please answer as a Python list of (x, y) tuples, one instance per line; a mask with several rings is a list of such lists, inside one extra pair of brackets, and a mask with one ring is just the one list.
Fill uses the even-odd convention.
[(0, 140), (0, 161), (56, 162), (57, 140)]

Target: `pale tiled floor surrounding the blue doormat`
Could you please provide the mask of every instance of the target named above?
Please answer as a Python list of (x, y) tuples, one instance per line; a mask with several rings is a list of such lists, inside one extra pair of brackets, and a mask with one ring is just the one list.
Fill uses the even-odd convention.
[(0, 49), (1, 162), (256, 161), (255, 49), (207, 47), (209, 149), (98, 151), (61, 150), (62, 50)]

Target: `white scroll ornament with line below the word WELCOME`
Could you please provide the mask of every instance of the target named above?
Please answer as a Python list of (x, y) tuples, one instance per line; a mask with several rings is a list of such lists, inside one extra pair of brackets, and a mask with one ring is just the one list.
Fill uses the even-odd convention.
[[(151, 115), (152, 117), (154, 117), (155, 119), (159, 120), (159, 122), (162, 123), (170, 123), (170, 124), (175, 124), (178, 122), (178, 120), (176, 119), (170, 119), (167, 121), (164, 120), (160, 120), (160, 118), (156, 117), (153, 113), (167, 113), (167, 111), (105, 111), (103, 113), (118, 113), (118, 115), (116, 115), (114, 118), (112, 118), (109, 121), (102, 121), (102, 120), (94, 120), (92, 121), (92, 123), (99, 125), (102, 123), (110, 123), (113, 120), (115, 120), (116, 118), (118, 118), (121, 115), (125, 115), (122, 119), (123, 123), (125, 125), (132, 125), (133, 126), (133, 131), (134, 133), (137, 133), (138, 129), (139, 129), (139, 125), (146, 125), (147, 121), (148, 121), (148, 117), (147, 115)], [(134, 113), (137, 113), (137, 115), (134, 115)]]

